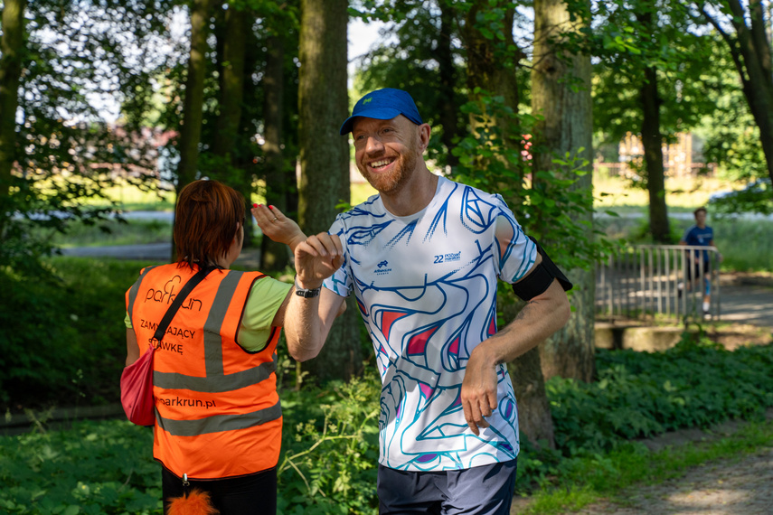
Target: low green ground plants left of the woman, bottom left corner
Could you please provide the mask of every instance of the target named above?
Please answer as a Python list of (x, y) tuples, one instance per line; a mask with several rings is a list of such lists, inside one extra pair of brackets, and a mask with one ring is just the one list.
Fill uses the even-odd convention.
[(153, 432), (128, 421), (0, 437), (0, 511), (37, 515), (160, 513)]

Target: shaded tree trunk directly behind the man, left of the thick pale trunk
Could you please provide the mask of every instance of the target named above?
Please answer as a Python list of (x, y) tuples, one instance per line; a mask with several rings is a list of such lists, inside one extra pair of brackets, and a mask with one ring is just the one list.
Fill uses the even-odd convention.
[[(519, 208), (523, 204), (525, 170), (520, 157), (524, 133), (516, 117), (515, 69), (523, 54), (513, 42), (514, 8), (506, 2), (492, 5), (479, 0), (468, 6), (463, 40), (467, 47), (467, 89), (470, 92), (467, 112), (474, 140), (469, 144), (463, 142), (461, 147), (470, 147), (476, 156), (463, 158), (461, 162), (472, 166), (470, 175), (492, 175), (488, 183), (477, 185), (502, 192), (516, 218), (521, 220)], [(489, 172), (484, 173), (485, 170)], [(507, 322), (513, 320), (521, 305), (513, 304), (512, 297), (509, 299), (503, 310)], [(539, 350), (534, 348), (526, 352), (508, 363), (507, 368), (518, 399), (521, 431), (533, 444), (545, 441), (553, 447), (551, 410)]]

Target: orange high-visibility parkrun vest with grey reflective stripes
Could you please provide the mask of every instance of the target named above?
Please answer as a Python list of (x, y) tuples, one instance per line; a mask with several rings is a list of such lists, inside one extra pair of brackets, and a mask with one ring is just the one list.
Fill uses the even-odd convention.
[(282, 438), (274, 328), (263, 351), (236, 342), (259, 272), (214, 270), (180, 306), (161, 342), (156, 327), (195, 273), (186, 265), (146, 267), (127, 291), (140, 355), (156, 347), (153, 456), (178, 477), (216, 479), (276, 466)]

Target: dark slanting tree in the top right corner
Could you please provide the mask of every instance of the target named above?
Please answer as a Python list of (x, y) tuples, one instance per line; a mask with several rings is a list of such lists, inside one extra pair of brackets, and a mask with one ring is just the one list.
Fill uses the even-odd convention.
[[(759, 140), (773, 181), (773, 48), (770, 3), (762, 0), (693, 2), (702, 20), (721, 34), (738, 70), (743, 94), (759, 127)], [(766, 13), (766, 7), (768, 13)]]

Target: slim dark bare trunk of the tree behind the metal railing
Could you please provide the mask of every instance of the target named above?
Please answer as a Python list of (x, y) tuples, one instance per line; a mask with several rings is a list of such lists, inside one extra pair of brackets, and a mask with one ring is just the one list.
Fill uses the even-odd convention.
[(660, 132), (660, 104), (657, 94), (657, 70), (646, 68), (645, 81), (639, 89), (644, 117), (642, 146), (645, 153), (646, 189), (649, 192), (649, 227), (657, 243), (674, 243), (668, 227), (665, 205), (665, 169), (663, 167), (663, 135)]

